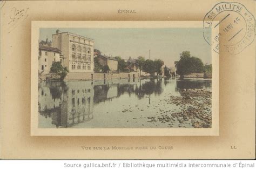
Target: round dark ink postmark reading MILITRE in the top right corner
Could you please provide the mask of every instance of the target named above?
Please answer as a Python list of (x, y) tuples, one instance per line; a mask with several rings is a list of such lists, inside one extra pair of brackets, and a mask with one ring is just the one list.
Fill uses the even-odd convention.
[(204, 39), (215, 52), (221, 46), (227, 53), (238, 54), (252, 44), (254, 24), (254, 16), (241, 3), (220, 2), (204, 17)]

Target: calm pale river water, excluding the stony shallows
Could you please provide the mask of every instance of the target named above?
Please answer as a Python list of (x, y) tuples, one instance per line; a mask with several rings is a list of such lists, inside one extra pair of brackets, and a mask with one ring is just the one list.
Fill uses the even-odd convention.
[[(179, 99), (181, 89), (211, 92), (211, 86), (211, 79), (43, 81), (38, 84), (38, 127), (192, 128), (191, 119), (184, 118), (181, 126), (179, 118), (170, 118), (183, 109), (170, 96)], [(205, 110), (211, 117), (211, 105)]]

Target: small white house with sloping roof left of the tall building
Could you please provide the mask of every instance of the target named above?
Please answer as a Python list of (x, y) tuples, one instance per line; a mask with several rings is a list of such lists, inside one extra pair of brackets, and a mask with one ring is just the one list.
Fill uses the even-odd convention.
[(39, 44), (38, 73), (49, 74), (53, 62), (63, 62), (61, 51), (55, 47)]

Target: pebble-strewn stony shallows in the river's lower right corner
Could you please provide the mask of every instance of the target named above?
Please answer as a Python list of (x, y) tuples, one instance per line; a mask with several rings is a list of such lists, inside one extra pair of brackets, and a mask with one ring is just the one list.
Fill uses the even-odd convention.
[[(204, 89), (182, 89), (181, 96), (172, 96), (160, 103), (176, 105), (178, 109), (159, 110), (158, 117), (148, 117), (149, 122), (167, 123), (169, 127), (211, 128), (212, 126), (212, 92)], [(177, 124), (178, 122), (178, 124)]]

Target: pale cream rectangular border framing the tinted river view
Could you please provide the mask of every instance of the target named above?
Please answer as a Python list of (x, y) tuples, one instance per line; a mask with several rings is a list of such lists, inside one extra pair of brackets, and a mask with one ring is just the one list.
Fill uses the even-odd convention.
[[(216, 22), (218, 23), (218, 22)], [(38, 128), (39, 28), (203, 28), (203, 21), (32, 21), (31, 135), (50, 136), (187, 136), (219, 135), (219, 54), (212, 50), (212, 128)], [(218, 29), (216, 29), (218, 30)], [(215, 31), (216, 31), (215, 30)], [(216, 32), (212, 30), (212, 39)], [(203, 37), (203, 34), (202, 34)], [(213, 47), (212, 47), (213, 48)]]

